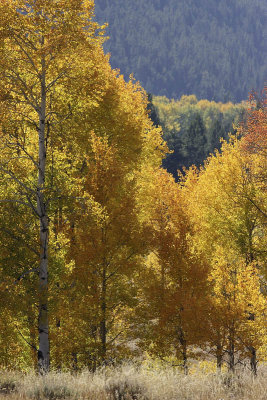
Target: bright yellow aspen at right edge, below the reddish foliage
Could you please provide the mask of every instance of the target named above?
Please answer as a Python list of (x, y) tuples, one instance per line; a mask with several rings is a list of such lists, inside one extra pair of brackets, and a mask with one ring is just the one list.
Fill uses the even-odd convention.
[[(223, 142), (222, 152), (211, 156), (200, 171), (191, 168), (184, 184), (195, 226), (195, 245), (203, 250), (211, 267), (214, 285), (211, 303), (213, 300), (217, 303), (215, 313), (220, 315), (220, 321), (225, 321), (221, 324), (215, 314), (213, 329), (222, 340), (216, 346), (222, 348), (222, 343), (226, 343), (230, 369), (235, 364), (235, 347), (239, 346), (243, 353), (249, 349), (254, 372), (257, 349), (253, 343), (257, 343), (257, 348), (262, 346), (264, 335), (259, 325), (264, 326), (266, 312), (261, 308), (260, 291), (266, 265), (266, 229), (261, 211), (254, 206), (260, 202), (265, 207), (266, 197), (254, 178), (256, 169), (255, 160), (244, 155), (242, 141), (232, 137), (230, 143)], [(227, 310), (235, 313), (230, 315)], [(224, 319), (227, 315), (228, 322)], [(251, 335), (247, 330), (242, 335), (240, 332), (245, 332), (242, 327), (247, 326), (250, 315), (257, 315), (255, 320), (250, 319)], [(217, 356), (221, 355), (220, 352)]]

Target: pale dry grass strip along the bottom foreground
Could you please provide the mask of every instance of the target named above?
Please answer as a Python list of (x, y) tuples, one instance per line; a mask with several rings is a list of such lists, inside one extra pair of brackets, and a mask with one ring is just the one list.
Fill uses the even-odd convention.
[(267, 366), (257, 378), (249, 371), (236, 376), (204, 373), (184, 376), (171, 368), (124, 365), (88, 371), (50, 373), (41, 378), (0, 372), (1, 400), (266, 400)]

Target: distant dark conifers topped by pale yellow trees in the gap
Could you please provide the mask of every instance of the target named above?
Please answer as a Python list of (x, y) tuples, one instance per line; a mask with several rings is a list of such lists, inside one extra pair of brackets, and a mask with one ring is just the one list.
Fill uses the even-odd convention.
[(246, 115), (245, 103), (198, 101), (195, 95), (184, 95), (177, 101), (164, 96), (150, 99), (150, 117), (162, 127), (171, 150), (163, 166), (175, 177), (183, 167), (203, 164), (209, 154), (221, 148), (221, 139), (229, 139)]

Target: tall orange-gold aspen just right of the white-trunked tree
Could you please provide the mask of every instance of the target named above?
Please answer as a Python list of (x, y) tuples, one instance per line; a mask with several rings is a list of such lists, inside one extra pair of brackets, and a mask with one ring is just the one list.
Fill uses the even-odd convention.
[(94, 130), (76, 147), (76, 158), (83, 160), (73, 192), (77, 201), (74, 209), (63, 210), (65, 222), (59, 226), (69, 242), (71, 270), (68, 308), (61, 303), (57, 330), (57, 336), (67, 331), (72, 337), (59, 358), (64, 363), (68, 354), (76, 367), (95, 368), (126, 349), (126, 314), (136, 303), (133, 276), (146, 248), (136, 186), (143, 163), (159, 166), (166, 152), (146, 105), (138, 84), (110, 71), (103, 103), (91, 121)]

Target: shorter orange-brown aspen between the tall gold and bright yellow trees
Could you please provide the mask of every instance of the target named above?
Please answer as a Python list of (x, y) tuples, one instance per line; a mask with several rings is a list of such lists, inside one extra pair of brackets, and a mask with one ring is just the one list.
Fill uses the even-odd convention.
[[(205, 341), (207, 265), (192, 246), (191, 222), (179, 185), (163, 169), (149, 169), (140, 186), (150, 253), (140, 275), (144, 343), (159, 357), (174, 356), (188, 371), (192, 346)], [(143, 326), (143, 325), (141, 325)]]

